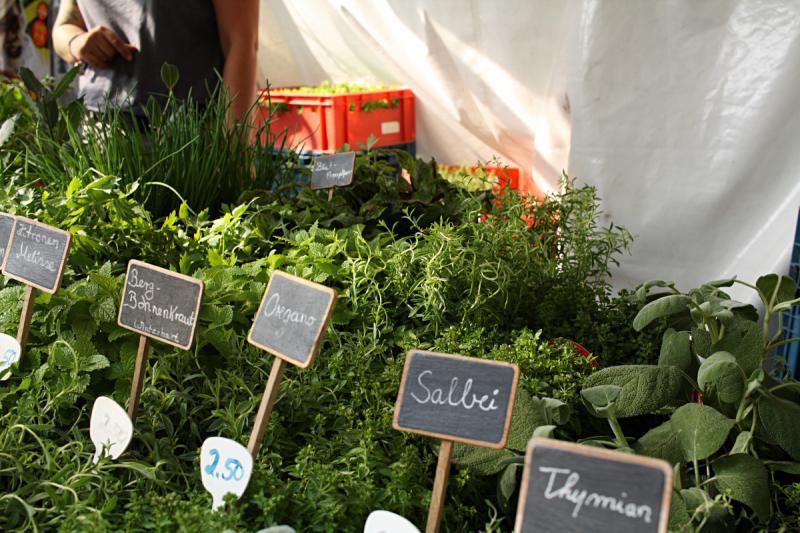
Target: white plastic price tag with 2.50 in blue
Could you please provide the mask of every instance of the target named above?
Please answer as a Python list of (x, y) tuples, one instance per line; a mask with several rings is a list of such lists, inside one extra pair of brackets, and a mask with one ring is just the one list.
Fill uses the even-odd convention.
[(238, 442), (224, 437), (209, 437), (203, 442), (200, 476), (203, 486), (211, 493), (211, 509), (222, 507), (228, 493), (241, 498), (252, 473), (253, 457)]

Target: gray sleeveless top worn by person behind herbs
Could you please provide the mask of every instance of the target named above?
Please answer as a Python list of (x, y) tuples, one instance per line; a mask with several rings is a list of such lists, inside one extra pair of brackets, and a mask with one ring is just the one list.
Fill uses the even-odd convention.
[[(175, 94), (204, 102), (225, 66), (212, 0), (78, 0), (87, 28), (106, 26), (139, 49), (133, 61), (117, 55), (110, 69), (87, 67), (79, 81), (90, 109), (111, 105), (140, 111), (163, 96), (161, 65), (178, 67)], [(219, 75), (217, 74), (219, 73)]]

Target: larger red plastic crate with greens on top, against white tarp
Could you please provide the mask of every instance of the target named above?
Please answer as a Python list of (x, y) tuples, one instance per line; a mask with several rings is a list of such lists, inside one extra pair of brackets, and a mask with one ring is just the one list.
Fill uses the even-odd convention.
[[(272, 116), (270, 131), (286, 132), (284, 146), (303, 152), (333, 153), (344, 144), (357, 149), (367, 144), (370, 135), (376, 148), (416, 141), (417, 123), (414, 93), (409, 89), (370, 91), (351, 94), (269, 93), (273, 107), (284, 108)], [(267, 91), (261, 95), (260, 123), (269, 117)], [(386, 108), (364, 110), (370, 103), (382, 102)], [(283, 105), (281, 105), (283, 104)]]

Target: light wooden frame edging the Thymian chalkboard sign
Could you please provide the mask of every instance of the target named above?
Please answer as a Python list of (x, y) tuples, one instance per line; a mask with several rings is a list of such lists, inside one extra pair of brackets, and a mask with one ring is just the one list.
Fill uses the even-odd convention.
[(658, 533), (667, 533), (669, 525), (669, 510), (670, 501), (672, 499), (672, 477), (673, 471), (669, 463), (661, 459), (653, 457), (644, 457), (641, 455), (625, 454), (606, 450), (605, 448), (596, 448), (593, 446), (585, 446), (574, 442), (566, 442), (555, 439), (545, 439), (535, 437), (528, 442), (528, 449), (525, 451), (525, 471), (522, 474), (522, 484), (520, 485), (519, 505), (517, 507), (517, 516), (514, 521), (514, 533), (522, 531), (522, 520), (525, 516), (525, 505), (528, 502), (528, 489), (531, 480), (531, 467), (533, 465), (533, 456), (536, 448), (555, 448), (569, 453), (583, 455), (586, 457), (595, 457), (607, 461), (614, 461), (617, 463), (627, 463), (633, 465), (640, 465), (655, 470), (660, 470), (664, 474), (664, 488), (661, 496), (661, 516), (658, 521)]

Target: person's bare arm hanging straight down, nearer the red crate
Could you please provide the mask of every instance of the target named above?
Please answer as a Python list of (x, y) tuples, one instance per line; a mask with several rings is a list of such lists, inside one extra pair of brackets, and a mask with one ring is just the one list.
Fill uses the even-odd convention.
[(256, 99), (258, 0), (214, 0), (220, 44), (225, 54), (223, 80), (233, 98), (233, 119), (241, 121)]

